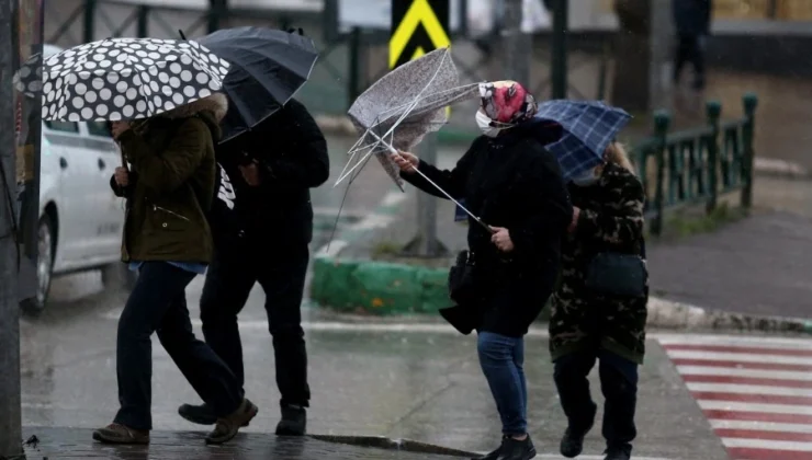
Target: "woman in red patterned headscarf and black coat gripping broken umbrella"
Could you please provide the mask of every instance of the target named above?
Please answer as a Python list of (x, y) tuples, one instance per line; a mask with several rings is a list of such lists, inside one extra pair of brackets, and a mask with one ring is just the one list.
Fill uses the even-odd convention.
[(572, 217), (556, 158), (532, 122), (533, 97), (517, 82), (481, 85), (483, 131), (451, 171), (411, 153), (393, 154), (404, 180), (444, 197), (416, 168), (490, 226), (471, 219), (467, 243), (477, 296), (462, 306), (475, 317), (480, 364), (503, 424), (501, 446), (487, 460), (535, 456), (527, 429), (523, 336), (553, 291), (560, 245)]

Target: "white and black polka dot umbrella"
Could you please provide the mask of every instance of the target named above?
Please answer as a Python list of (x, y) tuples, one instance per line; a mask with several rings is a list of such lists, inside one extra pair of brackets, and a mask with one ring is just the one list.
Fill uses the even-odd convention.
[[(105, 122), (147, 118), (212, 95), (230, 66), (193, 41), (108, 38), (66, 49), (43, 67), (43, 119)], [(23, 67), (18, 89), (33, 95), (36, 76)]]

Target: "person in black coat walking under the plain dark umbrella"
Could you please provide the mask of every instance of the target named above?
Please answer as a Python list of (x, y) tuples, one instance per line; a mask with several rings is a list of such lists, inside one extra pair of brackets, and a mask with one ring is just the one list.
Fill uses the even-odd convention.
[[(313, 239), (309, 189), (329, 176), (327, 142), (305, 106), (291, 100), (250, 134), (226, 142), (218, 161), (229, 182), (218, 196), (228, 198), (233, 212), (212, 217), (215, 251), (201, 298), (203, 334), (244, 383), (237, 315), (259, 283), (282, 395), (277, 434), (304, 435), (311, 390), (301, 306)], [(193, 423), (214, 421), (207, 404), (183, 404), (179, 413)]]

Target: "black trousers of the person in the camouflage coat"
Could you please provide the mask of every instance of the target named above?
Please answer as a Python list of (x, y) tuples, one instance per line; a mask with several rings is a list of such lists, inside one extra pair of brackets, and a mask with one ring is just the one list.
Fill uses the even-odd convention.
[(586, 430), (591, 425), (597, 407), (589, 393), (587, 380), (597, 359), (600, 359), (600, 389), (606, 399), (602, 435), (607, 445), (622, 446), (631, 442), (638, 435), (634, 426), (638, 403), (636, 363), (607, 350), (566, 355), (555, 361), (555, 387), (571, 430)]

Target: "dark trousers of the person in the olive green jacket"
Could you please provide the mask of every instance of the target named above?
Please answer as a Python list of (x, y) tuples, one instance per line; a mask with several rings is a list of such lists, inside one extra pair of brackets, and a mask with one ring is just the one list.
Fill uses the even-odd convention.
[(237, 378), (192, 332), (184, 290), (194, 276), (166, 262), (142, 265), (119, 319), (115, 368), (121, 409), (116, 423), (135, 429), (153, 428), (154, 332), (192, 388), (218, 416), (239, 407), (243, 396)]

